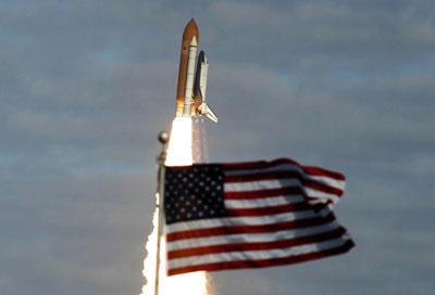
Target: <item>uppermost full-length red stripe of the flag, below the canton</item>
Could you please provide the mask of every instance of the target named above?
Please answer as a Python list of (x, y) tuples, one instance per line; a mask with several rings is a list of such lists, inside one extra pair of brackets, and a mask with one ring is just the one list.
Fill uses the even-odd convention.
[(313, 217), (306, 219), (297, 219), (293, 221), (276, 222), (272, 225), (261, 225), (261, 226), (228, 226), (219, 228), (203, 228), (196, 230), (176, 231), (166, 234), (166, 241), (173, 242), (177, 240), (185, 239), (197, 239), (213, 235), (226, 235), (226, 234), (237, 234), (237, 233), (264, 233), (274, 232), (283, 230), (293, 230), (298, 228), (308, 228), (328, 223), (335, 220), (335, 215), (331, 213), (325, 217)]

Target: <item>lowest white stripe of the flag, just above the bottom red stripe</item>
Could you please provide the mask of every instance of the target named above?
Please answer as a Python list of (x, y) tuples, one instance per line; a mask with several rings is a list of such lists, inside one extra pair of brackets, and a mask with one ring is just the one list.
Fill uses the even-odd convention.
[(186, 258), (169, 259), (167, 265), (170, 269), (176, 269), (186, 266), (198, 266), (198, 265), (207, 265), (213, 262), (240, 261), (240, 260), (252, 261), (252, 260), (262, 260), (272, 258), (285, 258), (285, 257), (333, 249), (343, 246), (346, 242), (347, 242), (346, 239), (338, 238), (325, 242), (318, 242), (313, 244), (306, 244), (301, 246), (294, 246), (279, 249), (213, 253), (213, 254), (198, 255)]

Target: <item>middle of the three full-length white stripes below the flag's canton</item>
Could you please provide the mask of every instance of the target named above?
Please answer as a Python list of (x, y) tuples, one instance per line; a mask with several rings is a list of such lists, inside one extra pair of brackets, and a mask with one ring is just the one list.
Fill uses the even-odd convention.
[(169, 251), (174, 251), (174, 249), (186, 249), (186, 248), (195, 248), (195, 247), (212, 246), (221, 244), (273, 242), (273, 241), (288, 240), (288, 239), (328, 232), (337, 228), (339, 228), (339, 225), (337, 221), (334, 220), (326, 225), (301, 228), (301, 229), (283, 230), (276, 232), (213, 235), (199, 239), (178, 240), (169, 242), (166, 247)]

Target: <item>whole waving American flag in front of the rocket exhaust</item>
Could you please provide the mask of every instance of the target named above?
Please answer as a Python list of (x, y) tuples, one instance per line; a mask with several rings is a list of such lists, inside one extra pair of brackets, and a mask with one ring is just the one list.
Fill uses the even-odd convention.
[(290, 265), (353, 247), (332, 207), (345, 176), (288, 158), (166, 167), (169, 275)]

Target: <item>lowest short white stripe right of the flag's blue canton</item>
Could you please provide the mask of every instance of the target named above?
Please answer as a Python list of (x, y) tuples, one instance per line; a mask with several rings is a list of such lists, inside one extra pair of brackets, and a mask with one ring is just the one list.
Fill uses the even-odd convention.
[(225, 207), (231, 209), (261, 208), (269, 206), (296, 204), (303, 201), (304, 197), (302, 195), (279, 195), (275, 197), (252, 200), (225, 200)]

